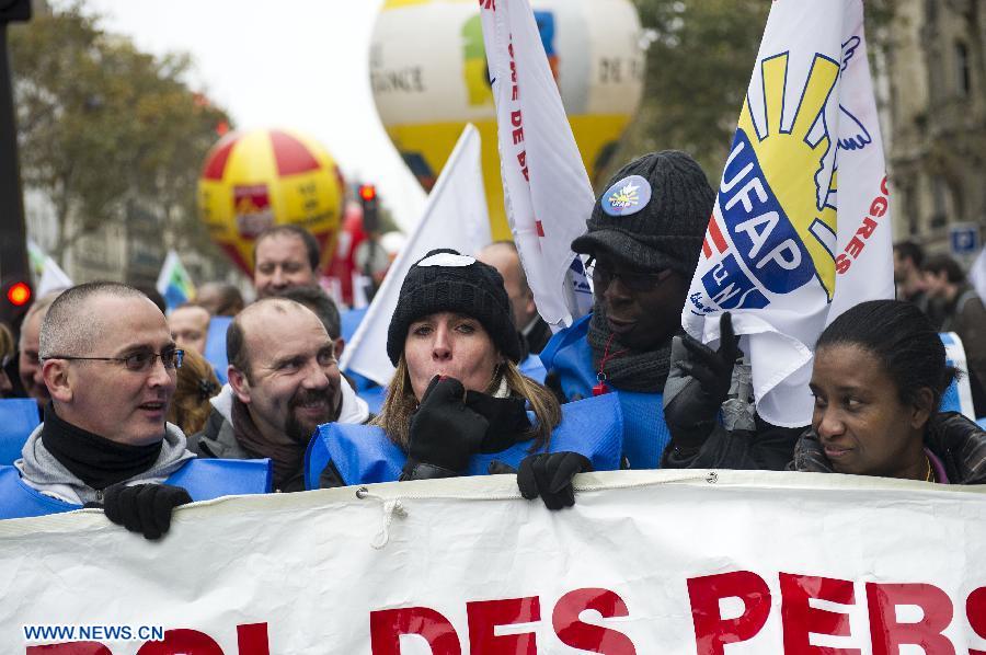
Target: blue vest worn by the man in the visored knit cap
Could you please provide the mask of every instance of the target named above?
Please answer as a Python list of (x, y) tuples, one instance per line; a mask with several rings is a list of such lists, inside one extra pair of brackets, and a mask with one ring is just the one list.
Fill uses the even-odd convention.
[[(592, 398), (598, 382), (587, 338), (591, 319), (587, 314), (558, 332), (541, 352), (544, 368), (558, 374), (567, 399)], [(623, 456), (630, 468), (660, 469), (661, 455), (670, 441), (664, 422), (664, 394), (614, 389), (606, 395), (616, 395), (623, 410)]]

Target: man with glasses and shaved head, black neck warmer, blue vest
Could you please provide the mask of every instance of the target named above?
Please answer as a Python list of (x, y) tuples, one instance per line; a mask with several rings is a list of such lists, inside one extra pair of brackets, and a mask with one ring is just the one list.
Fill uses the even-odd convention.
[(51, 400), (22, 459), (0, 468), (0, 518), (102, 505), (112, 521), (157, 539), (193, 498), (265, 491), (222, 467), (194, 466), (185, 436), (165, 423), (183, 353), (137, 289), (91, 283), (62, 292), (42, 323), (39, 356)]

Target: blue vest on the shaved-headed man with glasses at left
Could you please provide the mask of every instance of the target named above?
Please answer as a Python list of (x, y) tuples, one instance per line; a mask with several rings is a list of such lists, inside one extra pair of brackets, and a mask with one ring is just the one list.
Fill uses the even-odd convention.
[[(184, 487), (193, 501), (211, 501), (220, 496), (270, 493), (273, 474), (270, 459), (193, 459), (164, 482)], [(81, 508), (28, 486), (15, 467), (0, 466), (0, 519)]]

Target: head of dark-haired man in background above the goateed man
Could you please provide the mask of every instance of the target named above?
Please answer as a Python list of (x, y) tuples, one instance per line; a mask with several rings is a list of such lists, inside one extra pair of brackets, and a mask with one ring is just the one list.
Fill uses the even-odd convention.
[(276, 225), (256, 237), (253, 246), (253, 287), (257, 298), (276, 296), (289, 287), (319, 284), (319, 242), (294, 225)]

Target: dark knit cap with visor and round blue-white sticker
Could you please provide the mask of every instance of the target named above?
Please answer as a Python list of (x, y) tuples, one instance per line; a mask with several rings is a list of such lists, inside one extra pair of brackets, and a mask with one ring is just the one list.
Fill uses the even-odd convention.
[(645, 154), (614, 175), (572, 250), (601, 253), (632, 268), (672, 268), (690, 279), (714, 202), (715, 192), (690, 156)]

